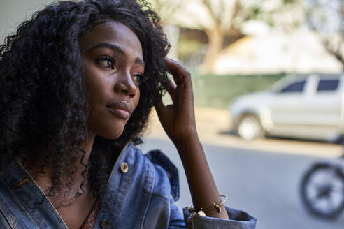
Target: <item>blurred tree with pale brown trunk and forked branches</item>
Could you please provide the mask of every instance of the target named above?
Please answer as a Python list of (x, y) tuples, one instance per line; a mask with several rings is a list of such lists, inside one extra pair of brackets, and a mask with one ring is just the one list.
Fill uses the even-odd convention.
[(286, 10), (292, 11), (300, 3), (301, 0), (190, 0), (191, 7), (184, 14), (189, 20), (196, 22), (196, 27), (203, 29), (208, 36), (203, 71), (212, 71), (224, 48), (225, 38), (234, 41), (243, 36), (241, 29), (245, 22), (264, 20), (274, 26), (275, 15), (285, 13)]

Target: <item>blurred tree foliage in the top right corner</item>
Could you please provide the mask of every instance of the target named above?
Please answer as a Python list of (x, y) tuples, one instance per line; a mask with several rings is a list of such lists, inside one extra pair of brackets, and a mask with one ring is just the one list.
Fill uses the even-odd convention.
[(344, 70), (344, 1), (308, 1), (308, 24), (320, 35), (327, 52), (342, 63)]

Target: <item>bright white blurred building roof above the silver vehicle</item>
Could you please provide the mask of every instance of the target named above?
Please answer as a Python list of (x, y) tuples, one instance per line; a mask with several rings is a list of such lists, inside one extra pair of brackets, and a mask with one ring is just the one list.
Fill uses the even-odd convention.
[(216, 74), (341, 73), (343, 66), (312, 31), (245, 36), (217, 58)]

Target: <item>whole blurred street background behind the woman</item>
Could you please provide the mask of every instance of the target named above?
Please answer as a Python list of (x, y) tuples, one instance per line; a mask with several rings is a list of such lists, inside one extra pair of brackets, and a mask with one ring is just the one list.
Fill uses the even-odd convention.
[[(52, 1), (1, 0), (0, 38)], [(196, 124), (227, 205), (258, 229), (344, 227), (344, 1), (150, 0), (192, 73)], [(166, 103), (169, 98), (166, 96)], [(144, 152), (178, 154), (153, 112)]]

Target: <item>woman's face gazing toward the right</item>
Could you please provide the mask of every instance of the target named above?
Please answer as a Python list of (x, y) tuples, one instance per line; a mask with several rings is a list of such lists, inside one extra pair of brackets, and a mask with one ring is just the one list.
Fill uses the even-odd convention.
[(96, 25), (80, 40), (89, 94), (89, 131), (115, 139), (138, 105), (143, 77), (141, 43), (120, 22)]

